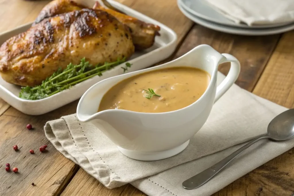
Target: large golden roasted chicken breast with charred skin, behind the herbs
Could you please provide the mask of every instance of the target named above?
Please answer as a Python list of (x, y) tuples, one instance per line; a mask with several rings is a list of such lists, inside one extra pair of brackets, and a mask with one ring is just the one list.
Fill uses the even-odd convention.
[(59, 67), (129, 58), (134, 53), (131, 34), (105, 11), (81, 9), (43, 19), (0, 48), (2, 78), (20, 86), (36, 86)]

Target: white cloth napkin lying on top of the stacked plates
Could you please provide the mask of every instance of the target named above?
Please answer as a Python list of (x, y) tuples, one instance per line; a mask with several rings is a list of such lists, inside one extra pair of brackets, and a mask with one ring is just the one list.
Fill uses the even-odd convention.
[(223, 16), (249, 26), (294, 21), (293, 0), (205, 0)]

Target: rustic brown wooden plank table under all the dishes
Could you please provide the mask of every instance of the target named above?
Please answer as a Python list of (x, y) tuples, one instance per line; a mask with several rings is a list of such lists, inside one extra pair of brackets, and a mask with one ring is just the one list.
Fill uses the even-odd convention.
[[(0, 32), (33, 21), (48, 0), (0, 0)], [(178, 9), (176, 0), (120, 0), (123, 4), (171, 27), (178, 34), (177, 58), (199, 44), (209, 44), (220, 53), (230, 53), (241, 63), (236, 82), (258, 96), (288, 108), (294, 106), (294, 31), (272, 36), (237, 36), (194, 24)], [(228, 66), (220, 71), (227, 73)], [(75, 113), (77, 101), (40, 116), (25, 115), (0, 99), (0, 195), (145, 195), (125, 185), (113, 190), (103, 187), (63, 155), (45, 138), (48, 120)], [(26, 124), (34, 125), (28, 131)], [(17, 144), (18, 153), (12, 151)], [(48, 145), (48, 153), (30, 155)], [(285, 152), (241, 177), (214, 195), (294, 195), (294, 153)], [(16, 165), (19, 173), (5, 171), (5, 163)], [(35, 186), (32, 186), (32, 183)]]

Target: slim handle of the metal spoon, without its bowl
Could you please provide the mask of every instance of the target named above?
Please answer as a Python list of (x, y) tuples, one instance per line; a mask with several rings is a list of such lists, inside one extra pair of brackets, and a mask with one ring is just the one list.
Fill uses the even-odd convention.
[(185, 189), (196, 189), (206, 182), (210, 180), (213, 176), (215, 176), (220, 170), (222, 170), (228, 163), (230, 163), (234, 158), (236, 158), (238, 155), (240, 155), (245, 149), (247, 149), (249, 146), (257, 142), (258, 140), (261, 140), (263, 138), (269, 138), (267, 134), (260, 135), (258, 138), (255, 138), (245, 144), (243, 147), (239, 148), (235, 152), (233, 152), (228, 157), (224, 158), (220, 162), (216, 163), (215, 165), (209, 167), (208, 169), (204, 170), (203, 172), (200, 172), (196, 174), (195, 176), (189, 178), (188, 180), (185, 180), (182, 185)]

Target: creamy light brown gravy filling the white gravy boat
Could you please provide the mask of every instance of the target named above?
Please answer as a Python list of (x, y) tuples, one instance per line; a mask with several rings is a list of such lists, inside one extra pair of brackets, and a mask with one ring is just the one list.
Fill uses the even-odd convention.
[[(113, 86), (102, 98), (98, 111), (124, 109), (160, 113), (184, 108), (206, 91), (210, 75), (197, 68), (173, 67), (141, 73)], [(152, 88), (159, 96), (150, 95)]]

